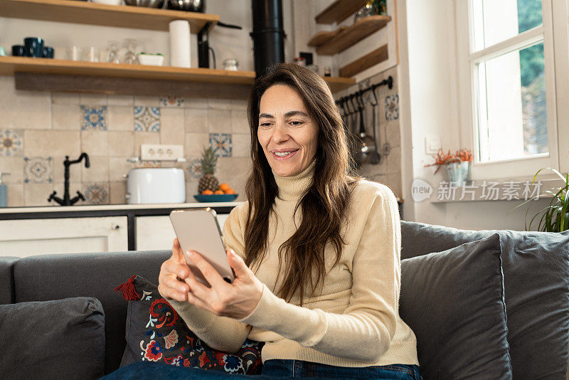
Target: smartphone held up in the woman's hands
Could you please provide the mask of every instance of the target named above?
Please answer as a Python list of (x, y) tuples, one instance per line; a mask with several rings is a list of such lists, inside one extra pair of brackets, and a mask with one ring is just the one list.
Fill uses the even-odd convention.
[(186, 258), (191, 272), (200, 283), (209, 285), (200, 270), (193, 265), (186, 252), (195, 250), (216, 268), (223, 280), (233, 283), (235, 275), (229, 265), (221, 228), (219, 228), (216, 211), (206, 209), (174, 210), (170, 213), (170, 221)]

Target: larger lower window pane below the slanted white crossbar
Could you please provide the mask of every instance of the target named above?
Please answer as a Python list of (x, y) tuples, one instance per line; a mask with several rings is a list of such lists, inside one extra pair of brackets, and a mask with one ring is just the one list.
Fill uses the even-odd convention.
[(543, 42), (477, 65), (481, 162), (548, 153)]

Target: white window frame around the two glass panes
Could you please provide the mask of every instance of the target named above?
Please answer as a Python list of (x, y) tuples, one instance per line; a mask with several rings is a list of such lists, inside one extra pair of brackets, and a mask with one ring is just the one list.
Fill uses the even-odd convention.
[[(563, 35), (565, 41), (568, 39), (568, 19), (565, 17), (563, 25), (557, 19), (563, 19), (562, 15), (555, 14), (555, 25), (553, 23), (553, 13), (560, 12), (567, 15), (568, 0), (553, 0), (555, 10), (552, 9), (552, 0), (542, 0), (543, 26), (533, 28), (529, 31), (520, 33), (517, 36), (496, 43), (484, 49), (483, 53), (472, 53), (471, 51), (471, 33), (472, 20), (470, 19), (469, 9), (472, 9), (472, 0), (455, 0), (456, 14), (456, 31), (457, 31), (457, 75), (458, 75), (458, 97), (459, 97), (459, 138), (461, 147), (468, 147), (474, 152), (474, 160), (472, 162), (472, 179), (506, 179), (506, 178), (528, 178), (536, 174), (538, 169), (543, 167), (553, 167), (562, 171), (569, 170), (569, 163), (564, 160), (565, 156), (559, 157), (558, 152), (566, 152), (569, 146), (569, 111), (563, 108), (569, 108), (569, 60), (568, 46), (565, 43), (565, 53), (558, 52), (557, 41), (558, 34)], [(562, 8), (562, 9), (561, 9)], [(554, 36), (555, 28), (555, 38)], [(508, 159), (498, 162), (480, 162), (478, 149), (475, 148), (477, 142), (478, 126), (475, 117), (477, 117), (477, 108), (475, 101), (477, 99), (475, 71), (476, 64), (481, 58), (491, 58), (499, 56), (502, 53), (511, 51), (516, 43), (518, 47), (526, 46), (528, 39), (537, 41), (543, 33), (543, 53), (545, 58), (546, 71), (546, 103), (547, 103), (547, 120), (548, 120), (548, 154), (534, 156), (528, 158)], [(562, 39), (562, 38), (560, 38)], [(555, 70), (558, 68), (558, 70)], [(561, 75), (556, 75), (556, 71)], [(565, 82), (560, 83), (560, 80)], [(558, 89), (563, 85), (563, 91)], [(558, 100), (565, 99), (565, 106), (560, 106)], [(563, 110), (563, 115), (558, 115), (558, 110)], [(562, 124), (565, 122), (565, 124)], [(558, 136), (560, 139), (558, 139)], [(561, 138), (565, 139), (563, 141)], [(561, 144), (563, 142), (563, 144)], [(565, 151), (563, 150), (565, 149)], [(560, 165), (560, 158), (563, 159), (563, 165)]]

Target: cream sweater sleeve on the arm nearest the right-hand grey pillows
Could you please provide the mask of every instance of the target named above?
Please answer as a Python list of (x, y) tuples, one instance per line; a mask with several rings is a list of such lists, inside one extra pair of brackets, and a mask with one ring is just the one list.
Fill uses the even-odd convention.
[(352, 292), (344, 314), (289, 304), (264, 286), (255, 310), (240, 321), (334, 357), (378, 360), (395, 334), (400, 234), (397, 201), (383, 186), (376, 192), (353, 257)]

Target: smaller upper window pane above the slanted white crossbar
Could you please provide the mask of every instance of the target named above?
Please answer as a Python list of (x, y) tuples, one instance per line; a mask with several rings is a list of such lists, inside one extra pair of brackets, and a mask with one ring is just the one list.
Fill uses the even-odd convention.
[(542, 21), (541, 0), (472, 0), (474, 51), (480, 51)]

